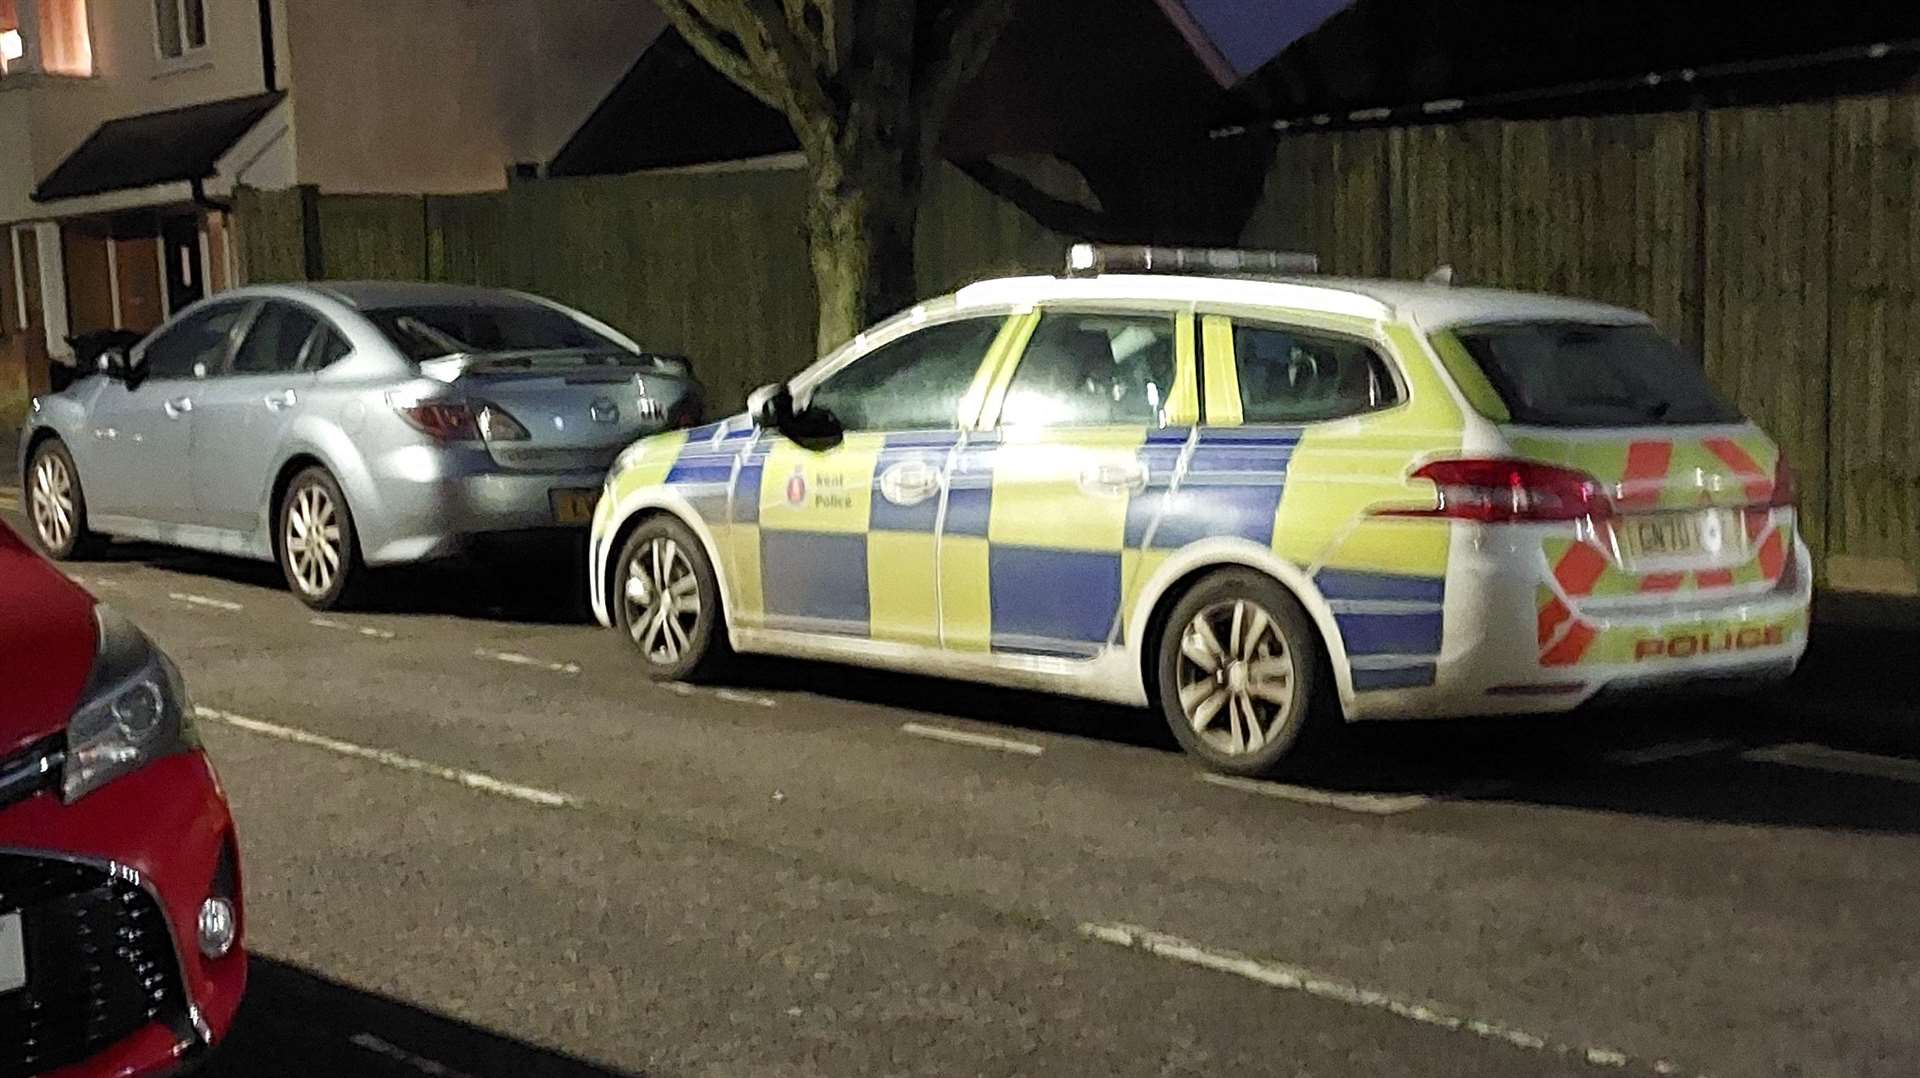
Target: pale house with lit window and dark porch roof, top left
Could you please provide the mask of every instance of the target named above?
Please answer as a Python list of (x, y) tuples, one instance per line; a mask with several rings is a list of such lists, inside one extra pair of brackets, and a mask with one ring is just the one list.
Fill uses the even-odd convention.
[(630, 0), (0, 0), (0, 423), (71, 336), (232, 282), (236, 186), (501, 188), (659, 27)]

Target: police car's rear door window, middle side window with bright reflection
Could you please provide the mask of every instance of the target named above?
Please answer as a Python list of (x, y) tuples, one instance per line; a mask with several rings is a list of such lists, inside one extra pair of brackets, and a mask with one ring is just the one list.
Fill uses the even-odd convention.
[(1006, 427), (1165, 427), (1171, 317), (1048, 311), (1006, 388)]

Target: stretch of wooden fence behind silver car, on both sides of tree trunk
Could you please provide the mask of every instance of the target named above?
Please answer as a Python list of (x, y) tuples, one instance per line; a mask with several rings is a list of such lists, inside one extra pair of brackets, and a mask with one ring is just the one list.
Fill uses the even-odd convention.
[[(422, 279), (526, 288), (572, 304), (662, 352), (684, 352), (714, 396), (812, 361), (814, 284), (797, 171), (680, 173), (520, 183), (497, 194), (242, 192), (248, 281)], [(920, 215), (922, 290), (1052, 271), (1068, 240), (937, 173)]]

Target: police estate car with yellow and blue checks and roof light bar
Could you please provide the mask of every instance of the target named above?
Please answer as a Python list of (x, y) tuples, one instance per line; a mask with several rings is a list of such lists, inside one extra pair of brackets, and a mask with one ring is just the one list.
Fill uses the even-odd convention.
[(634, 444), (591, 598), (649, 673), (799, 655), (1309, 728), (1786, 676), (1780, 450), (1638, 311), (1077, 246)]

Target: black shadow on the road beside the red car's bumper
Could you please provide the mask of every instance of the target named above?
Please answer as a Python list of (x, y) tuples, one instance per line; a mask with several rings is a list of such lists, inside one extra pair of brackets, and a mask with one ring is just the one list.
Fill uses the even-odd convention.
[(248, 993), (202, 1078), (641, 1078), (503, 1038), (253, 955)]

